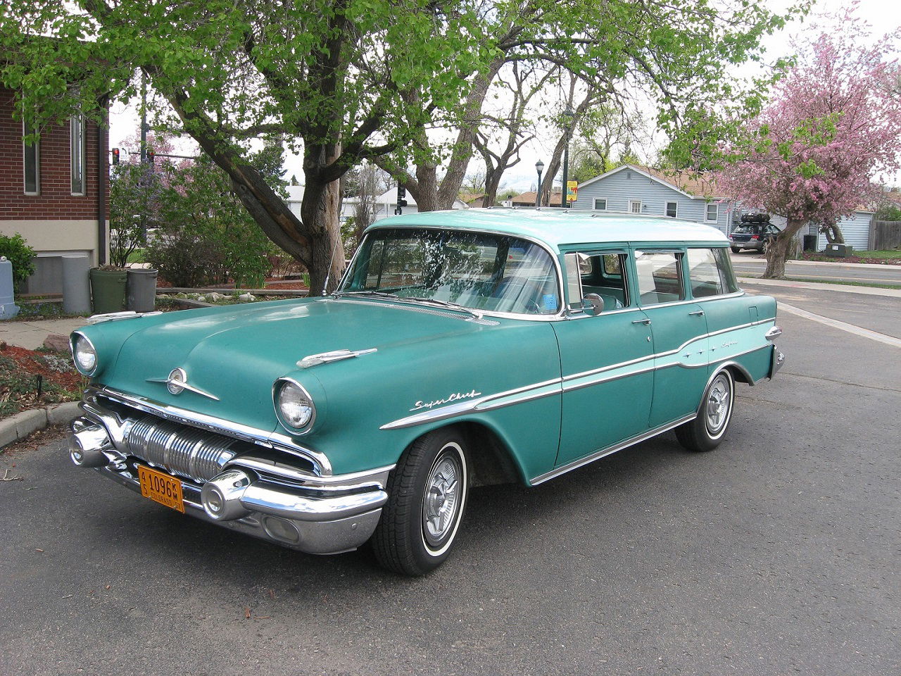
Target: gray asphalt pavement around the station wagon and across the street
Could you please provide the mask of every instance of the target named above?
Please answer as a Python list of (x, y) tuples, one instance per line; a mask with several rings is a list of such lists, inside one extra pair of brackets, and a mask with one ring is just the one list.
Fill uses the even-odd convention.
[[(852, 298), (807, 308), (890, 328)], [(717, 450), (666, 434), (476, 489), (418, 580), (181, 516), (61, 441), (4, 453), (0, 673), (896, 676), (901, 352), (779, 323), (787, 365), (742, 386)]]

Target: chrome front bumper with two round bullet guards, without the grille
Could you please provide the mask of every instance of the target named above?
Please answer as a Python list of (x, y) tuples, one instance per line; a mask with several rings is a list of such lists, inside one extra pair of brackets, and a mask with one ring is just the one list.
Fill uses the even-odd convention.
[[(69, 452), (81, 467), (141, 493), (137, 465), (116, 428), (98, 407), (82, 407), (72, 422)], [(165, 467), (160, 468), (166, 470)], [(280, 462), (248, 454), (228, 461), (214, 479), (181, 483), (185, 513), (300, 552), (332, 554), (369, 540), (387, 502), (385, 485), (393, 466), (369, 472), (317, 477)]]

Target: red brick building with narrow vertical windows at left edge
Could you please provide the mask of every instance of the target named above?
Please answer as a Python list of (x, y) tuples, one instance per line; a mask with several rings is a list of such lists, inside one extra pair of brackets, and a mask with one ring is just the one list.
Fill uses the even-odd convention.
[(76, 117), (26, 146), (13, 111), (14, 93), (0, 87), (0, 233), (21, 233), (38, 251), (25, 290), (60, 293), (60, 255), (86, 252), (93, 266), (107, 260), (107, 134)]

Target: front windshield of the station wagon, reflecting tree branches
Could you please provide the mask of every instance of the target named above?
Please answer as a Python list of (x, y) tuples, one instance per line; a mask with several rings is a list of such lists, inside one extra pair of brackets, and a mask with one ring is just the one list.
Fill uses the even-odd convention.
[(367, 234), (337, 293), (376, 292), (487, 312), (553, 315), (560, 308), (547, 251), (515, 237), (466, 231)]

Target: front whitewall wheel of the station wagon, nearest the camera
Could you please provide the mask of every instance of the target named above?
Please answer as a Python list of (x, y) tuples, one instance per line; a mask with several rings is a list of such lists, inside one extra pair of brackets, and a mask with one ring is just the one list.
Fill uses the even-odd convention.
[(378, 562), (405, 575), (440, 566), (451, 553), (469, 494), (463, 435), (446, 428), (417, 439), (391, 472), (387, 492), (371, 540)]

